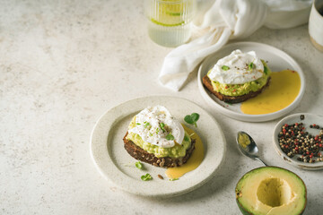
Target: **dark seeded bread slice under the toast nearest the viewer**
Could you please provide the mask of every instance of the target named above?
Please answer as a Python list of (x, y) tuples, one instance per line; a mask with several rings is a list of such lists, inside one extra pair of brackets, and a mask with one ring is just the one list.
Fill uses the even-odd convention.
[(193, 150), (195, 150), (195, 142), (196, 141), (192, 139), (191, 146), (186, 151), (186, 154), (184, 157), (181, 157), (181, 158), (170, 158), (170, 157), (157, 158), (153, 153), (148, 153), (147, 151), (143, 150), (139, 146), (135, 145), (134, 142), (127, 140), (126, 137), (127, 137), (127, 133), (126, 133), (125, 137), (123, 138), (123, 141), (124, 141), (124, 147), (127, 150), (128, 154), (131, 155), (134, 159), (139, 159), (140, 161), (143, 161), (145, 163), (149, 163), (155, 167), (161, 167), (161, 168), (179, 167), (188, 161)]

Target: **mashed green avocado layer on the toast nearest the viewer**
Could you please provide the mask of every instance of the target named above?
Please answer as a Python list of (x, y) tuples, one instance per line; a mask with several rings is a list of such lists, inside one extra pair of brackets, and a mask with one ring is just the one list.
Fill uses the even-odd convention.
[[(135, 127), (135, 117), (132, 119), (129, 129)], [(170, 158), (179, 158), (186, 155), (186, 150), (190, 147), (191, 139), (187, 132), (185, 132), (185, 137), (182, 144), (176, 143), (175, 146), (170, 148), (162, 148), (156, 145), (153, 145), (149, 142), (144, 142), (139, 134), (128, 133), (127, 140), (130, 140), (139, 146), (143, 150), (154, 154), (157, 158), (170, 157)]]

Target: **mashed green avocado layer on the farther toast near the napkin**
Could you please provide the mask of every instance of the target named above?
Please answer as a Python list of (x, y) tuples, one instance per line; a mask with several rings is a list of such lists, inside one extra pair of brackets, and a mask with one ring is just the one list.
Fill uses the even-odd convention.
[[(261, 78), (258, 78), (258, 80), (243, 84), (226, 84), (211, 80), (214, 90), (226, 96), (242, 96), (248, 94), (250, 91), (258, 91), (266, 85), (266, 82), (271, 74), (266, 62), (263, 60), (261, 61), (264, 64), (264, 74)], [(207, 74), (209, 73), (211, 73), (211, 70)]]

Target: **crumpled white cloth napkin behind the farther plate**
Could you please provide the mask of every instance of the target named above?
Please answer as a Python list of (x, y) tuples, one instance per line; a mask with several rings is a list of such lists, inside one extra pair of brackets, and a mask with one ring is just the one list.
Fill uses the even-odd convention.
[(312, 0), (215, 0), (196, 30), (204, 33), (165, 57), (159, 81), (180, 90), (197, 64), (229, 39), (243, 39), (265, 25), (292, 28), (308, 22)]

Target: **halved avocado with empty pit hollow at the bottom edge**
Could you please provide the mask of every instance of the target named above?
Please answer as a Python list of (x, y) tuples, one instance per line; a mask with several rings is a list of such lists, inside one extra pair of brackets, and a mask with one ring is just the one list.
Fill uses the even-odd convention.
[(255, 168), (236, 186), (236, 201), (243, 214), (302, 214), (307, 202), (300, 176), (284, 168)]

